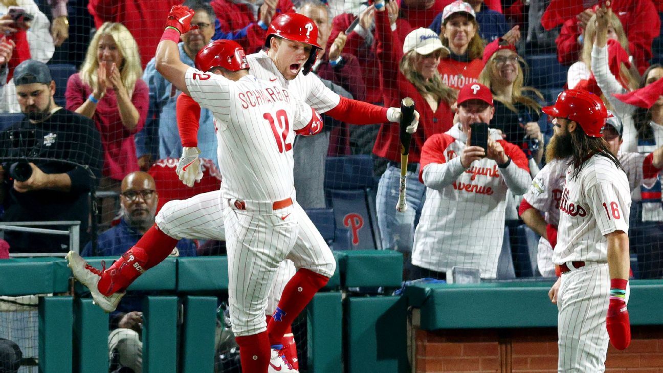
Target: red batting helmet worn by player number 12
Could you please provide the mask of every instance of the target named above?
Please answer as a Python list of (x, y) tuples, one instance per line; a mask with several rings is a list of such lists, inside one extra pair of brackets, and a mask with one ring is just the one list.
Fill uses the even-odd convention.
[(244, 49), (233, 40), (214, 40), (196, 54), (196, 68), (208, 72), (215, 67), (237, 71), (249, 68)]

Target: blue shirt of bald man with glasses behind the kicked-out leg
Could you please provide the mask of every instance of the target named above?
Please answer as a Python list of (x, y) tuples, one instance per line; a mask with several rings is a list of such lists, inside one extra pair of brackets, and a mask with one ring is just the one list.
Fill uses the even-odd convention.
[[(134, 246), (143, 235), (129, 226), (122, 218), (117, 226), (99, 234), (97, 237), (97, 256), (121, 256)], [(196, 242), (182, 238), (175, 248), (179, 254), (176, 256), (196, 256)], [(172, 255), (172, 254), (171, 254)], [(92, 256), (92, 243), (83, 249), (81, 256)]]

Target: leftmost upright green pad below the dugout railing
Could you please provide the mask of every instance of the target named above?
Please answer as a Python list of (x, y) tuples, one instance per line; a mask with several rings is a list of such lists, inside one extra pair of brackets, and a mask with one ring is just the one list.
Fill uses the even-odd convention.
[(72, 297), (39, 298), (40, 373), (72, 371), (72, 307)]

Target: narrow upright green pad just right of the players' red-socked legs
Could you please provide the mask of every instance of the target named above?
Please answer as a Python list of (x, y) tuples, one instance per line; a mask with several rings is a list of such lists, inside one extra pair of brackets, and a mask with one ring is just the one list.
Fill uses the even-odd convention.
[(317, 293), (306, 308), (308, 370), (342, 373), (343, 303), (341, 293)]

